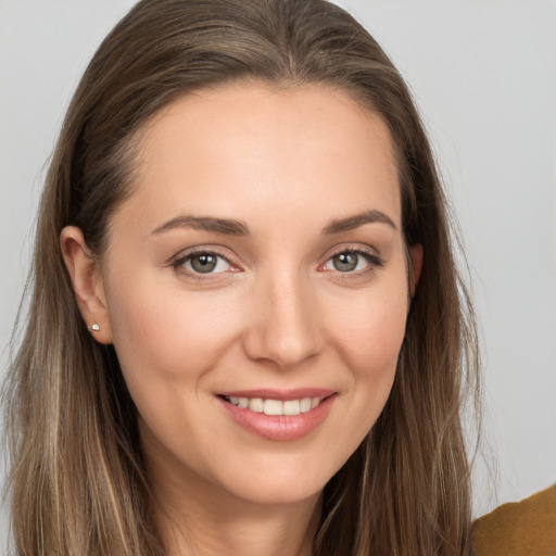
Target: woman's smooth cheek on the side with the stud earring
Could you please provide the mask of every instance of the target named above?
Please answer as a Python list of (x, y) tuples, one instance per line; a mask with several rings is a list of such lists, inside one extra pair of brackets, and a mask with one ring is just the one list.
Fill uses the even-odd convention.
[(149, 280), (132, 289), (116, 286), (110, 300), (114, 346), (130, 391), (199, 379), (235, 333), (231, 315), (215, 311), (217, 300)]

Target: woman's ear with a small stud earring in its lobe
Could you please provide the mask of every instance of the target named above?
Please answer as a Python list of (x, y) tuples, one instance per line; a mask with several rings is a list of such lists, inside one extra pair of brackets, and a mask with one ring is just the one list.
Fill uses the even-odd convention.
[[(98, 342), (112, 343), (104, 282), (100, 268), (85, 243), (81, 230), (76, 226), (66, 226), (60, 235), (60, 245), (77, 306), (87, 328)], [(93, 325), (98, 325), (99, 329), (91, 328)]]

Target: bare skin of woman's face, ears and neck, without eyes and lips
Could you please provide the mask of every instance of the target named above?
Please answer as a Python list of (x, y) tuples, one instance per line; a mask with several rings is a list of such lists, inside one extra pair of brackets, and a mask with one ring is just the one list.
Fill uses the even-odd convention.
[[(323, 488), (389, 396), (407, 265), (415, 281), (421, 264), (401, 232), (390, 132), (346, 93), (241, 83), (162, 110), (138, 153), (100, 262), (78, 228), (61, 244), (84, 319), (114, 343), (137, 405), (168, 554), (309, 555)], [(384, 218), (323, 231), (369, 211)], [(182, 215), (233, 218), (249, 236), (164, 228)], [(195, 275), (192, 248), (225, 258)], [(333, 256), (353, 251), (370, 256), (339, 270)], [(308, 387), (333, 404), (293, 441), (253, 434), (217, 397)]]

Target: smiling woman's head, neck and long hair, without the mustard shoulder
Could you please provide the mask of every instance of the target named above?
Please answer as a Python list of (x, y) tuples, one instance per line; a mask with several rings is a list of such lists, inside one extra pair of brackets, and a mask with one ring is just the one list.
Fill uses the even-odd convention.
[(18, 554), (470, 553), (446, 203), (341, 9), (139, 2), (68, 109), (33, 273)]

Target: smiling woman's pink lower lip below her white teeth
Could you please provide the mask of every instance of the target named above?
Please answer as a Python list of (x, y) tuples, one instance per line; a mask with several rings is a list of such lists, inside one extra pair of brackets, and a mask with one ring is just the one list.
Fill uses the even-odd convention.
[(218, 399), (226, 413), (241, 427), (266, 440), (298, 440), (316, 429), (328, 416), (336, 394), (323, 400), (314, 409), (299, 415), (266, 415), (238, 407)]

